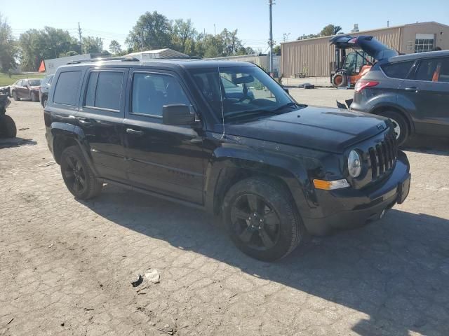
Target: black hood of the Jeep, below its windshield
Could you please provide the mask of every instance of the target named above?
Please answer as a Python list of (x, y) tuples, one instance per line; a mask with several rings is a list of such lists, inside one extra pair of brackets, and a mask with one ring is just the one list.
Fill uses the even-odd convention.
[[(225, 133), (319, 151), (342, 153), (387, 129), (385, 118), (368, 113), (308, 106), (279, 116), (226, 125)], [(215, 132), (222, 132), (216, 125)]]

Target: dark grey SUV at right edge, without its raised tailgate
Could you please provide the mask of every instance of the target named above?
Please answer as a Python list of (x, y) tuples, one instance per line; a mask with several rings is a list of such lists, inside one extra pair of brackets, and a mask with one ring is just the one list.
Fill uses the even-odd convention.
[(398, 144), (410, 134), (449, 136), (449, 51), (380, 59), (356, 83), (351, 110), (390, 118)]

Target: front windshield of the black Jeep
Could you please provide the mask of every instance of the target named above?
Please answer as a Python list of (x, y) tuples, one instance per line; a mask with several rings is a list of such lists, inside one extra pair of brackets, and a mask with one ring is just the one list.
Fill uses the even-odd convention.
[(283, 88), (257, 66), (220, 67), (220, 75), (217, 68), (191, 72), (220, 120), (222, 116), (229, 121), (278, 114), (297, 107)]

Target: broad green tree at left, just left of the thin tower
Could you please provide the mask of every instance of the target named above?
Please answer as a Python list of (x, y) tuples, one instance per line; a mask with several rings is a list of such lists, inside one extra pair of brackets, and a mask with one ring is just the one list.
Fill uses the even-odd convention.
[(58, 58), (79, 50), (78, 42), (68, 31), (53, 27), (29, 29), (20, 35), (19, 46), (20, 64), (29, 71), (37, 71), (43, 59)]

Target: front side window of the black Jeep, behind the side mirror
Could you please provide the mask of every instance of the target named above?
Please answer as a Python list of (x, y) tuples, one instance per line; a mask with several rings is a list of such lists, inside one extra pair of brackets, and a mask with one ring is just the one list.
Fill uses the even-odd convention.
[(169, 104), (190, 105), (176, 78), (154, 73), (134, 74), (132, 113), (162, 116), (162, 106)]

